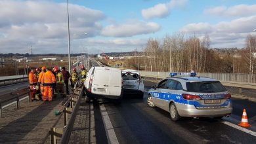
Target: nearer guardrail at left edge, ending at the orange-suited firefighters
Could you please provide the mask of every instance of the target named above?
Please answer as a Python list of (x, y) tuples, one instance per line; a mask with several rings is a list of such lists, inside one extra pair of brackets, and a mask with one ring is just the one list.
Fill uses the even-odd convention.
[[(21, 98), (25, 94), (28, 94), (28, 96)], [(29, 95), (30, 95), (29, 88), (23, 88), (21, 90), (17, 90), (15, 92), (11, 92), (9, 94), (1, 95), (1, 97), (7, 97), (7, 99), (3, 99), (0, 101), (0, 118), (3, 117), (2, 113), (3, 113), (3, 109), (5, 109), (5, 107), (9, 107), (10, 105), (16, 103), (16, 108), (18, 109), (20, 107), (20, 101), (27, 99), (27, 98), (28, 98), (28, 102), (30, 101)], [(9, 101), (12, 101), (12, 102), (8, 103)], [(5, 104), (5, 105), (3, 105), (3, 104)]]

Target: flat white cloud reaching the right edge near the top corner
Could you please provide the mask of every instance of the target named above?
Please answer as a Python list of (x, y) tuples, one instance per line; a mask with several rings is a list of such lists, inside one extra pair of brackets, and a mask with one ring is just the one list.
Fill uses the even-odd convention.
[(213, 7), (204, 10), (205, 14), (221, 17), (253, 16), (256, 14), (256, 5), (235, 5), (233, 7)]

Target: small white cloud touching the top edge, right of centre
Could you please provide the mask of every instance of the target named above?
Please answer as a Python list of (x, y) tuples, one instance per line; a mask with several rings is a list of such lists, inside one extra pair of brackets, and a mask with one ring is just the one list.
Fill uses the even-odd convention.
[(169, 16), (171, 9), (175, 7), (183, 7), (188, 0), (171, 0), (168, 3), (159, 3), (154, 7), (142, 9), (141, 14), (146, 20), (151, 18), (165, 18)]

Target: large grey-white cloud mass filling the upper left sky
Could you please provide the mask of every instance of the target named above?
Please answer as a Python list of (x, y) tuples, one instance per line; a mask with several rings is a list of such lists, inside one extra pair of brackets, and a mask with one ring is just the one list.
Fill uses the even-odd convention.
[[(99, 35), (105, 18), (100, 10), (70, 4), (70, 35), (79, 39)], [(1, 1), (0, 49), (3, 53), (28, 52), (32, 45), (34, 53), (66, 53), (67, 47), (66, 3), (50, 1)], [(3, 36), (1, 36), (3, 35)], [(65, 50), (64, 50), (65, 48)]]

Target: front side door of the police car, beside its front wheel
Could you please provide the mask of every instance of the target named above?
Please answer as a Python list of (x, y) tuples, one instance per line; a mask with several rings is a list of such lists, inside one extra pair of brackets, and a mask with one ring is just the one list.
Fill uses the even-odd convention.
[(154, 105), (157, 107), (161, 107), (161, 103), (163, 103), (163, 94), (162, 92), (165, 91), (166, 89), (166, 84), (167, 84), (168, 79), (164, 79), (163, 81), (159, 82), (158, 86), (156, 87), (156, 90), (154, 91), (153, 94), (153, 102)]

